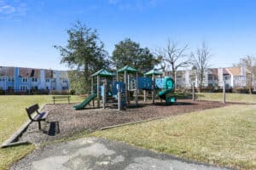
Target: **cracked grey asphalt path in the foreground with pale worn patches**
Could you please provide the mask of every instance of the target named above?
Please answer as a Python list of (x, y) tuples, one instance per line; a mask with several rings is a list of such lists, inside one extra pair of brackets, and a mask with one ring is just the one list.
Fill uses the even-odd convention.
[(34, 151), (10, 169), (224, 170), (107, 139), (77, 139)]

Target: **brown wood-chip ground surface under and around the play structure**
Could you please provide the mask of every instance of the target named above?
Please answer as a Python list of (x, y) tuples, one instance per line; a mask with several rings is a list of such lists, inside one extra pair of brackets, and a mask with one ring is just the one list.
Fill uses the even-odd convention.
[(164, 105), (163, 103), (156, 103), (155, 105), (146, 103), (137, 107), (131, 105), (126, 111), (117, 111), (109, 107), (105, 110), (102, 108), (87, 108), (82, 111), (74, 111), (73, 105), (45, 105), (43, 111), (49, 111), (49, 116), (48, 122), (42, 123), (44, 133), (38, 131), (37, 122), (32, 122), (20, 140), (42, 143), (72, 136), (74, 133), (79, 133), (83, 130), (95, 131), (101, 127), (142, 121), (160, 116), (202, 111), (225, 105), (214, 101), (191, 102), (189, 99), (178, 100), (174, 105)]

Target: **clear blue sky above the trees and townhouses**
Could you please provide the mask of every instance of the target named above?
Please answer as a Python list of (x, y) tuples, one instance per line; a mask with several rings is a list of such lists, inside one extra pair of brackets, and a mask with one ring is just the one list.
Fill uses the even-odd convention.
[(142, 47), (166, 46), (168, 38), (195, 51), (202, 41), (212, 67), (256, 56), (253, 0), (0, 0), (0, 65), (67, 69), (53, 45), (67, 44), (76, 20), (97, 29), (109, 54), (131, 37)]

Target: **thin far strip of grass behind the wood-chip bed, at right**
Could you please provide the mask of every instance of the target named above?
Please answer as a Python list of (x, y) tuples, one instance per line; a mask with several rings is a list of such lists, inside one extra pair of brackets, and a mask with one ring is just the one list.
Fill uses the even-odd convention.
[[(196, 93), (196, 99), (223, 101), (222, 93)], [(256, 103), (256, 94), (226, 94), (226, 101)]]

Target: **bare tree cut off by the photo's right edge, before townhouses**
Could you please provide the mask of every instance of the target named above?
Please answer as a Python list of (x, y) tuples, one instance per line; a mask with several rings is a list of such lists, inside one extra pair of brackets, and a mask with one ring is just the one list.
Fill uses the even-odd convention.
[(252, 94), (252, 89), (254, 88), (254, 79), (256, 76), (256, 58), (247, 55), (246, 57), (241, 58), (240, 62), (234, 66), (246, 69), (246, 88), (249, 90), (250, 94)]

